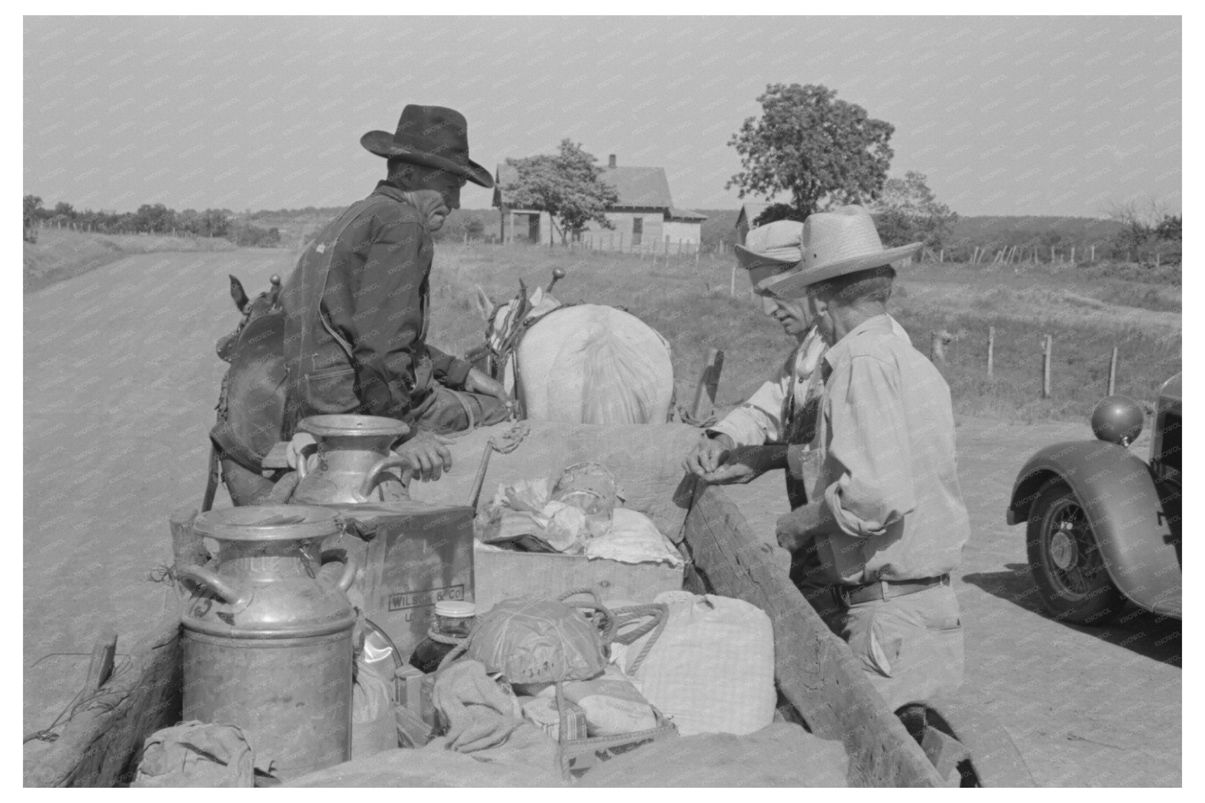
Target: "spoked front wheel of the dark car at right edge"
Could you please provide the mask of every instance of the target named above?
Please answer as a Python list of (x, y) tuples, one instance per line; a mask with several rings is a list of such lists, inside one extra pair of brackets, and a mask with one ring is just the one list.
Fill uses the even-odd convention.
[(1027, 531), (1029, 567), (1054, 619), (1107, 625), (1125, 604), (1109, 579), (1083, 505), (1063, 480), (1038, 494)]

